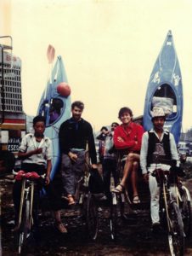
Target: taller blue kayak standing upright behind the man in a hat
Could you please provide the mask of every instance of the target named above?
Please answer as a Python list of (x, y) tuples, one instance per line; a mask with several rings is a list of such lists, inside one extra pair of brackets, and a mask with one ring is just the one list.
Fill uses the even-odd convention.
[(183, 105), (181, 71), (172, 32), (169, 31), (150, 75), (144, 102), (144, 130), (149, 131), (153, 126), (151, 122), (152, 108), (161, 107), (167, 113), (164, 127), (172, 132), (178, 144), (183, 118)]

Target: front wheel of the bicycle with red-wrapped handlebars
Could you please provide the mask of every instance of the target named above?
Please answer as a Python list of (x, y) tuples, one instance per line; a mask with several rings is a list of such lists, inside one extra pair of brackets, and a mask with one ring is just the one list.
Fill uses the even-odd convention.
[(21, 222), (20, 235), (19, 235), (19, 254), (25, 254), (26, 239), (30, 230), (30, 201), (24, 202), (24, 217)]

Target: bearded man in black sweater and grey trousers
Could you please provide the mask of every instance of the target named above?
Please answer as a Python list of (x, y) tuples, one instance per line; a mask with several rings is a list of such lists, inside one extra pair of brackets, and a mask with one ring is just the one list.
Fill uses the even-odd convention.
[(93, 168), (97, 168), (96, 149), (92, 126), (82, 119), (84, 104), (73, 102), (71, 119), (67, 119), (59, 129), (59, 145), (62, 154), (61, 173), (69, 205), (75, 204), (76, 182), (82, 177), (85, 167), (85, 153), (88, 152)]

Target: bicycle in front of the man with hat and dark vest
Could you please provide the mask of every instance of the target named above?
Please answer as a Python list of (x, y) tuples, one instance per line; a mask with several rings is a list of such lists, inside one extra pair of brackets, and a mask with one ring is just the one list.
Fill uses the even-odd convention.
[[(177, 173), (155, 169), (151, 173), (160, 187), (160, 218), (167, 224), (168, 244), (171, 255), (184, 255), (184, 222), (177, 198), (179, 197), (176, 183)], [(174, 191), (174, 192), (173, 192)]]

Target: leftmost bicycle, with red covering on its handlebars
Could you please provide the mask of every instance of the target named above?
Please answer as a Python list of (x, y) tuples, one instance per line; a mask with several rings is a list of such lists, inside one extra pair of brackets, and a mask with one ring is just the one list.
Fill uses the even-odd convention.
[(13, 171), (13, 174), (16, 180), (22, 181), (17, 235), (19, 238), (18, 253), (24, 254), (26, 241), (31, 234), (31, 228), (33, 225), (32, 211), (33, 211), (35, 181), (39, 178), (43, 178), (44, 175), (39, 176), (37, 172), (24, 172), (24, 171), (19, 171), (19, 172)]

